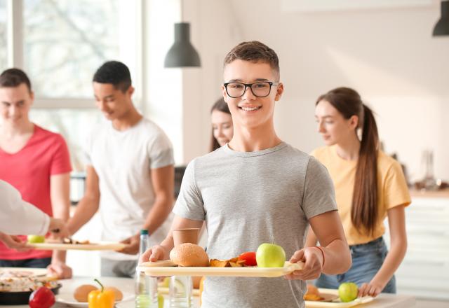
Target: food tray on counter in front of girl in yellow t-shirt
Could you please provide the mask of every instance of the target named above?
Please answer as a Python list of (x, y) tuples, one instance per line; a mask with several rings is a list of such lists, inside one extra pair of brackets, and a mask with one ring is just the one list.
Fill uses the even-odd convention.
[(371, 302), (374, 300), (374, 297), (364, 296), (357, 297), (358, 289), (355, 288), (354, 292), (350, 291), (341, 292), (335, 289), (326, 289), (326, 288), (316, 288), (313, 285), (307, 285), (307, 293), (304, 294), (304, 302), (307, 308), (313, 307), (354, 307), (359, 304), (366, 304), (367, 302)]

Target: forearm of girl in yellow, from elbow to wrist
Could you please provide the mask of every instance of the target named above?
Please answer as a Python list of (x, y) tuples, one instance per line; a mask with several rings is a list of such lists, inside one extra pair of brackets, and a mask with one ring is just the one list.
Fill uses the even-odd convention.
[[(407, 251), (407, 239), (398, 242), (397, 244), (391, 243), (391, 248), (387, 257), (385, 258), (379, 272), (375, 274), (373, 281), (378, 281), (382, 286), (387, 285), (388, 281), (394, 275), (394, 272), (398, 269), (399, 265), (406, 255)], [(368, 281), (367, 281), (368, 282)]]

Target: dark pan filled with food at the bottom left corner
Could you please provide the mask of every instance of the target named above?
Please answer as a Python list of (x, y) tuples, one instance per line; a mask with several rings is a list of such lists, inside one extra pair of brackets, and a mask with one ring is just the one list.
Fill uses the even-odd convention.
[(0, 303), (28, 304), (29, 295), (42, 286), (58, 294), (61, 283), (53, 276), (46, 276), (46, 272), (46, 269), (1, 267)]

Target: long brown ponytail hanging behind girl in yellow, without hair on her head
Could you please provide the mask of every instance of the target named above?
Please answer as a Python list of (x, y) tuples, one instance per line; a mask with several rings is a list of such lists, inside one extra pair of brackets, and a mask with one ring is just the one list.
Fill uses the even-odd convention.
[(373, 111), (363, 104), (363, 127), (358, 154), (351, 221), (357, 230), (373, 235), (377, 223), (377, 151), (379, 135)]

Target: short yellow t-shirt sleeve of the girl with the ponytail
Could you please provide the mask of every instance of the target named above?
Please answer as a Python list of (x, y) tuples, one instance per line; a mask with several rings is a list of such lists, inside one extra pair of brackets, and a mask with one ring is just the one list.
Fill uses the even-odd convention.
[(410, 193), (406, 178), (402, 172), (402, 167), (396, 160), (385, 174), (384, 187), (384, 207), (391, 209), (398, 205), (408, 206), (411, 202)]

